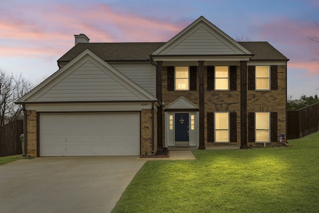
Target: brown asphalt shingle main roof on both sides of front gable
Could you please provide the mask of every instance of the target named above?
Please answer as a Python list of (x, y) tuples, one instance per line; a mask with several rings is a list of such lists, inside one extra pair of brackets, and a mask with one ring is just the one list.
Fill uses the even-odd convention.
[[(289, 60), (267, 41), (238, 42), (254, 56), (252, 60)], [(150, 61), (150, 55), (165, 42), (78, 43), (58, 59), (69, 62), (89, 49), (105, 61)]]

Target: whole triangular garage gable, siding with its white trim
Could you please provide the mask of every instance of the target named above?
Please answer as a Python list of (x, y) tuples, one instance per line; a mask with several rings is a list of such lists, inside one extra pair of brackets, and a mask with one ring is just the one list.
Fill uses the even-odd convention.
[(17, 103), (146, 100), (157, 99), (86, 49)]

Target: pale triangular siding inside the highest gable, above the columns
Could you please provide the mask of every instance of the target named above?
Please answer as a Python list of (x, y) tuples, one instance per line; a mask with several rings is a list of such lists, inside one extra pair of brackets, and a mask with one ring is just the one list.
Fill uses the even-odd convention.
[(180, 41), (166, 54), (236, 54), (222, 39), (217, 38), (204, 27), (197, 30)]

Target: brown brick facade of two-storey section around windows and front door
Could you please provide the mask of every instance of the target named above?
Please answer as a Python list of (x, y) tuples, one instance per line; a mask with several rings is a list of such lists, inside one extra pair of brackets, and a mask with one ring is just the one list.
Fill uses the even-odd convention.
[[(207, 66), (204, 67), (204, 88), (205, 88), (205, 112), (204, 112), (204, 138), (205, 147), (209, 146), (240, 146), (241, 127), (240, 127), (240, 66), (237, 66), (237, 90), (235, 91), (208, 91), (207, 90)], [(278, 142), (272, 142), (267, 146), (278, 146), (279, 135), (286, 134), (286, 65), (278, 66), (278, 90), (247, 92), (247, 112), (278, 112)], [(247, 79), (248, 82), (248, 79)], [(199, 75), (197, 69), (197, 90), (196, 91), (167, 91), (167, 67), (162, 67), (162, 94), (165, 106), (175, 101), (180, 96), (185, 97), (192, 103), (199, 106)], [(247, 87), (248, 89), (248, 87)], [(237, 142), (236, 143), (213, 143), (207, 142), (207, 112), (236, 112), (237, 116)], [(163, 114), (163, 130), (164, 113)], [(163, 146), (165, 145), (165, 133), (162, 135)], [(248, 143), (259, 147), (263, 144)]]

